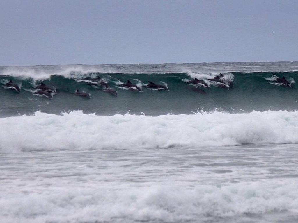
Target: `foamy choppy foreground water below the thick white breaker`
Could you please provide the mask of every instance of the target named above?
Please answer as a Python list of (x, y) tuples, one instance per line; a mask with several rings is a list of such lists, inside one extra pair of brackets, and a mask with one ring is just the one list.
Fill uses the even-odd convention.
[(2, 154), (2, 222), (296, 222), (297, 146)]

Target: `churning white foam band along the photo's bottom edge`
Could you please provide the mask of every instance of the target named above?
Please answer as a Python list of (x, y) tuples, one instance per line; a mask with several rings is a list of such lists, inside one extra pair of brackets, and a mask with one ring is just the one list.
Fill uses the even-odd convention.
[(230, 222), (231, 217), (242, 222), (241, 217), (249, 214), (298, 214), (298, 186), (293, 180), (193, 189), (170, 184), (121, 190), (92, 186), (5, 193), (0, 200), (1, 222), (215, 222), (216, 217), (221, 222)]

